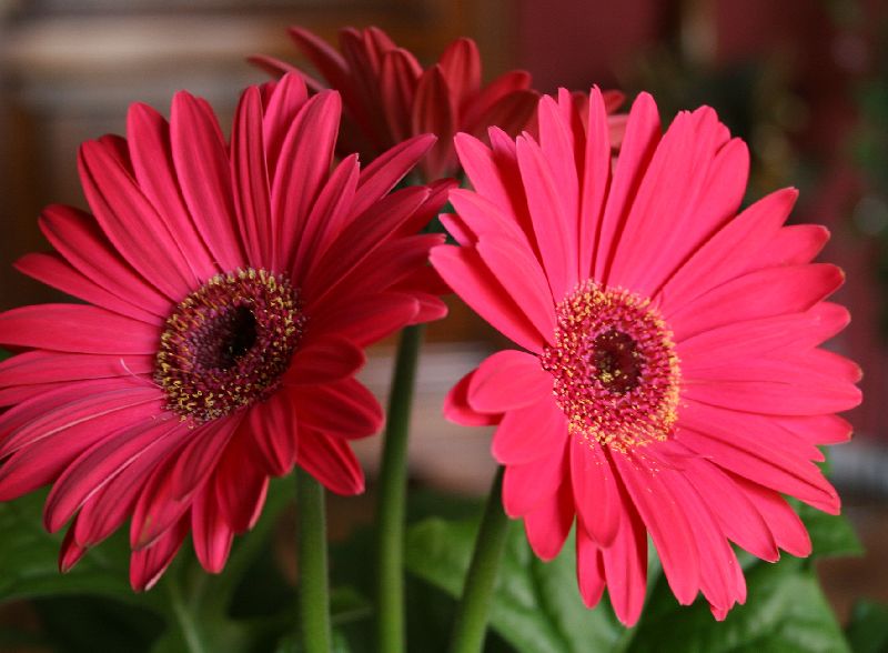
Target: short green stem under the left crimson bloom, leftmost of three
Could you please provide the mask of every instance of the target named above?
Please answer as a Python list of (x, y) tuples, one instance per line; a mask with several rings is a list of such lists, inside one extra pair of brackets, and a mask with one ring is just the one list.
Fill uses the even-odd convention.
[(300, 629), (305, 653), (329, 653), (330, 591), (327, 589), (324, 489), (302, 469), (296, 470), (299, 528)]

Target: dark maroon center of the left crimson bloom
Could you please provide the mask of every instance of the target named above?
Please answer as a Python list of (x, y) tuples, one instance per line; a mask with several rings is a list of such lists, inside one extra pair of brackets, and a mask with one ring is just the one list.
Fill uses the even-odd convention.
[(167, 319), (154, 381), (167, 408), (198, 423), (266, 399), (305, 325), (299, 293), (280, 274), (218, 274)]

